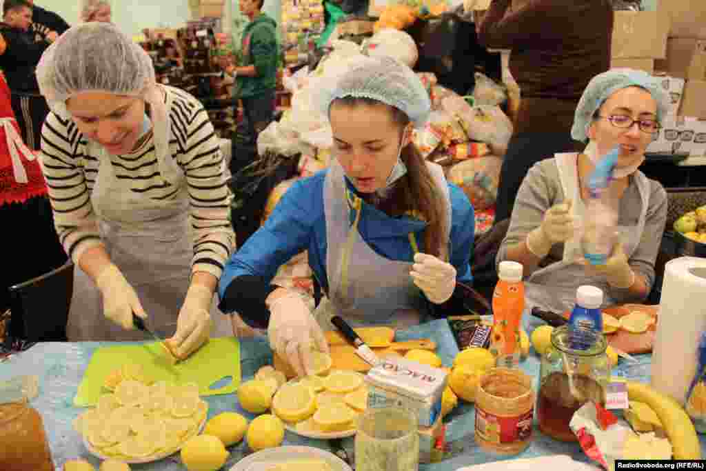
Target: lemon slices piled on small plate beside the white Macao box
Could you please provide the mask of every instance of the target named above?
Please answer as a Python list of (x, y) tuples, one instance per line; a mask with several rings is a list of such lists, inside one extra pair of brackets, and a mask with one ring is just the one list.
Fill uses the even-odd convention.
[(363, 376), (334, 370), (328, 376), (292, 380), (277, 390), (272, 410), (302, 435), (330, 434), (357, 428), (368, 403)]

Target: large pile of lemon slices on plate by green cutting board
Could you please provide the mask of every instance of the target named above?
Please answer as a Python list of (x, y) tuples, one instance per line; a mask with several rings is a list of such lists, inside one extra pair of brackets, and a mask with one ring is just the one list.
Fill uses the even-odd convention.
[(118, 460), (147, 461), (176, 453), (198, 434), (208, 403), (199, 397), (196, 383), (150, 385), (135, 379), (142, 378), (138, 368), (118, 371), (109, 376), (113, 392), (102, 395), (96, 407), (73, 424), (93, 448), (90, 451)]

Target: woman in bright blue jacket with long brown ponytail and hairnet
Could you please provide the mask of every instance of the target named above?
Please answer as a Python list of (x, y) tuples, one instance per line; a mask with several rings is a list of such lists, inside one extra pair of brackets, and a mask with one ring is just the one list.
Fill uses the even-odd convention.
[[(267, 326), (270, 346), (300, 375), (311, 347), (328, 350), (320, 324), (329, 328), (332, 314), (354, 326), (408, 326), (472, 279), (473, 208), (411, 143), (431, 109), (412, 70), (360, 56), (314, 101), (329, 118), (335, 158), (292, 185), (219, 285), (222, 311)], [(270, 285), (304, 250), (327, 294), (314, 315), (299, 294)]]

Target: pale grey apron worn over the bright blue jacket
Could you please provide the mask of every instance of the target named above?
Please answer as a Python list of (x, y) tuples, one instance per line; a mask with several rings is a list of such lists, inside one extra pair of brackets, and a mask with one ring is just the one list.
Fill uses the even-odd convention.
[[(451, 225), (448, 186), (441, 167), (426, 163), (434, 183), (442, 189), (446, 208), (446, 234), (443, 240), (448, 241)], [(345, 175), (335, 159), (331, 161), (325, 179), (323, 196), (329, 292), (328, 299), (324, 299), (314, 313), (322, 328), (333, 330), (330, 325), (333, 314), (341, 316), (352, 326), (394, 324), (404, 328), (423, 321), (427, 314), (423, 294), (409, 275), (413, 263), (390, 260), (377, 254), (363, 240), (357, 228), (349, 230), (350, 208)], [(346, 263), (342, 262), (342, 258), (347, 250)], [(344, 277), (350, 281), (342, 282)]]

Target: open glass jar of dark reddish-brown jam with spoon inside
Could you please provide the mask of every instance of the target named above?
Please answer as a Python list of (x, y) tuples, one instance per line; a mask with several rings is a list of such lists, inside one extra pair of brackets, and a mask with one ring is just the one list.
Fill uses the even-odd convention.
[(610, 379), (603, 333), (588, 328), (555, 328), (551, 348), (542, 356), (537, 395), (537, 424), (543, 434), (559, 441), (577, 441), (569, 427), (582, 405), (605, 407)]

